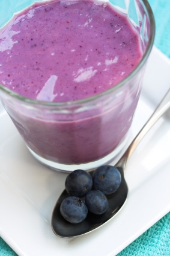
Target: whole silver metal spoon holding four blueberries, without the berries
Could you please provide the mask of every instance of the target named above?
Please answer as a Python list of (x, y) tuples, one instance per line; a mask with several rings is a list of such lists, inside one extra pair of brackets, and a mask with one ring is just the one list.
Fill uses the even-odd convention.
[[(124, 205), (128, 194), (127, 184), (124, 179), (124, 170), (127, 164), (127, 160), (129, 159), (130, 155), (132, 155), (133, 151), (136, 149), (144, 135), (148, 132), (148, 130), (150, 130), (154, 123), (159, 120), (159, 118), (166, 112), (166, 110), (169, 109), (169, 107), (170, 89), (168, 90), (160, 104), (157, 106), (156, 110), (153, 112), (147, 123), (144, 125), (144, 127), (142, 127), (141, 131), (138, 133), (135, 139), (133, 139), (132, 143), (130, 144), (124, 155), (115, 165), (120, 170), (122, 181), (118, 190), (115, 193), (107, 196), (109, 200), (109, 209), (108, 211), (106, 211), (106, 213), (99, 216), (96, 214), (88, 213), (87, 218), (83, 220), (83, 222), (71, 224), (64, 220), (59, 212), (59, 207), (62, 200), (64, 200), (65, 197), (68, 197), (68, 194), (65, 190), (62, 192), (53, 209), (51, 222), (52, 230), (56, 235), (58, 235), (58, 237), (71, 238), (87, 234), (88, 232), (91, 232), (94, 229), (102, 226), (104, 223), (108, 222), (108, 220), (112, 219), (112, 217), (114, 217), (115, 214), (118, 213), (118, 211)], [(93, 174), (93, 171), (90, 171), (90, 173)]]

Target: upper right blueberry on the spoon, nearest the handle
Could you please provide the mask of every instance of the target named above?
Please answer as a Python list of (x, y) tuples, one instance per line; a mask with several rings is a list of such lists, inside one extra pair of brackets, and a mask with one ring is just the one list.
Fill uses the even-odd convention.
[(93, 173), (94, 189), (103, 194), (112, 194), (117, 191), (121, 183), (120, 171), (112, 165), (103, 165)]

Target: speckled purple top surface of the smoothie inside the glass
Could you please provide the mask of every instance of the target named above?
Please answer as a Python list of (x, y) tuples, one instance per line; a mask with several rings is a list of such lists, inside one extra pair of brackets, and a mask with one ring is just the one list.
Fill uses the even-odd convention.
[(141, 56), (138, 34), (110, 4), (38, 2), (0, 31), (0, 83), (34, 100), (80, 100), (117, 85)]

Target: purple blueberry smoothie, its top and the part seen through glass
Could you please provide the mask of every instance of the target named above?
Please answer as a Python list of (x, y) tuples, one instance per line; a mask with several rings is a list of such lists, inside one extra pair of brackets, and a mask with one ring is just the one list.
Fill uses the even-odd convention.
[[(80, 164), (111, 153), (125, 138), (138, 103), (141, 77), (93, 106), (73, 103), (113, 88), (142, 58), (139, 35), (127, 16), (100, 1), (37, 2), (0, 30), (0, 83), (37, 100), (39, 111), (8, 114), (35, 154), (53, 162)], [(137, 79), (137, 80), (136, 80)], [(113, 104), (114, 102), (114, 104)], [(35, 113), (36, 112), (36, 113)], [(49, 114), (50, 113), (50, 114)]]

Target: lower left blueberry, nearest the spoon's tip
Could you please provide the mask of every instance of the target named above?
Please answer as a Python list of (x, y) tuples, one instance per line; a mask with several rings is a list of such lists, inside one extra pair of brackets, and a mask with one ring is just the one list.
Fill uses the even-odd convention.
[(87, 217), (88, 208), (79, 197), (69, 196), (62, 201), (60, 213), (68, 222), (79, 223)]

